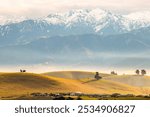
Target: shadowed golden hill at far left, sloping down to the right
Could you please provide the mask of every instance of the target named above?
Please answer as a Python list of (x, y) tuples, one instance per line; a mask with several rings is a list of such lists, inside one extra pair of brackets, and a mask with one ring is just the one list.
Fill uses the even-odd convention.
[(82, 84), (78, 80), (63, 79), (29, 73), (1, 73), (0, 96), (31, 92), (84, 92), (101, 93), (101, 90)]

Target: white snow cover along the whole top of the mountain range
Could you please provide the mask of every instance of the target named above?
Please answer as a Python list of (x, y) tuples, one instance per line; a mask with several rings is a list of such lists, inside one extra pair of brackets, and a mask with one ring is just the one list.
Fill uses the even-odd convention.
[(116, 30), (120, 28), (122, 31), (131, 31), (150, 26), (150, 11), (120, 15), (101, 9), (78, 9), (64, 13), (51, 13), (47, 17), (37, 19), (0, 16), (0, 25), (21, 23), (26, 20), (34, 20), (37, 23), (43, 22), (50, 25), (65, 25), (66, 28), (84, 24), (93, 28), (95, 32), (100, 32), (109, 26), (114, 26), (112, 28)]

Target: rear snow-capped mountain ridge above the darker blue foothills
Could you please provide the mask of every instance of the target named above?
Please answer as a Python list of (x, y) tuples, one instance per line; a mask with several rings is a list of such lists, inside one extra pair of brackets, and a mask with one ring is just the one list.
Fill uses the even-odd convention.
[(0, 16), (1, 45), (26, 44), (39, 38), (68, 35), (118, 35), (150, 26), (150, 12), (120, 15), (102, 9), (78, 9), (47, 17)]

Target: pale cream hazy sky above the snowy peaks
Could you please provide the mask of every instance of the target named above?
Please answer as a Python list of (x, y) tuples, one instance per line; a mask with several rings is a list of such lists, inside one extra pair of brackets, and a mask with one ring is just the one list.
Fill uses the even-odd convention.
[(103, 8), (120, 13), (150, 10), (150, 0), (0, 0), (0, 15), (46, 16), (78, 8)]

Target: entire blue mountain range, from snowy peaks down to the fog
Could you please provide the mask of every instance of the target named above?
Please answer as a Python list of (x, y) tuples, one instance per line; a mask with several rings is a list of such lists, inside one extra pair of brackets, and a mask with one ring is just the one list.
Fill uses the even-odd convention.
[(80, 9), (37, 19), (0, 17), (0, 23), (0, 65), (150, 66), (150, 12)]

